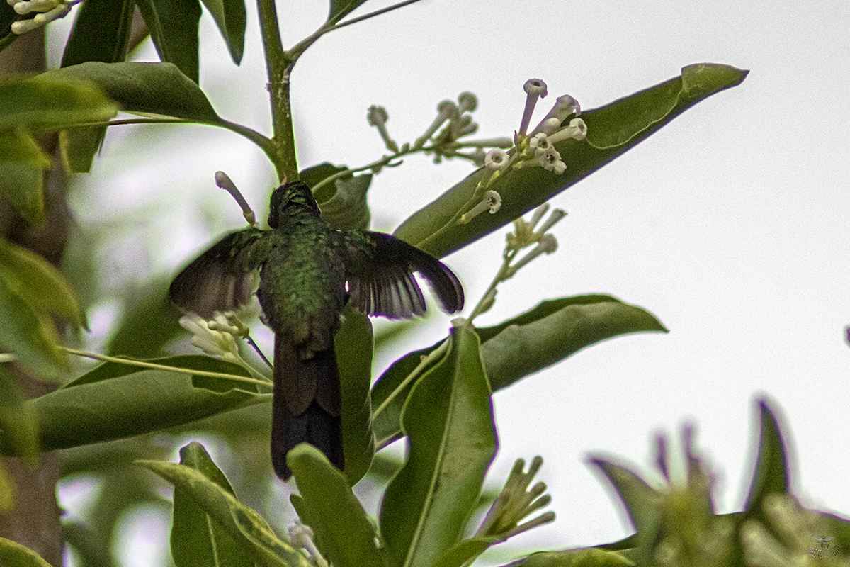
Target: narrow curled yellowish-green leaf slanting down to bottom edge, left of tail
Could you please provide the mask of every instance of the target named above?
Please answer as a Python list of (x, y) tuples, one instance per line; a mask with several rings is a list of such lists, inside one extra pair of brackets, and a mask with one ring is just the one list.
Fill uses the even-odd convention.
[(216, 524), (239, 542), (261, 565), (311, 567), (297, 549), (275, 536), (269, 524), (201, 471), (173, 462), (137, 461), (183, 490)]

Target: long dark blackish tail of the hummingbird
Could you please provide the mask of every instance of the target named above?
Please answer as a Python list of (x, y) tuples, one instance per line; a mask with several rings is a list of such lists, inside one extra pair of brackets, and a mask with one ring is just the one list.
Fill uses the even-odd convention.
[(271, 462), (280, 479), (292, 476), (286, 453), (299, 443), (314, 445), (343, 470), (339, 388), (337, 354), (332, 345), (303, 360), (292, 343), (281, 337), (275, 339)]

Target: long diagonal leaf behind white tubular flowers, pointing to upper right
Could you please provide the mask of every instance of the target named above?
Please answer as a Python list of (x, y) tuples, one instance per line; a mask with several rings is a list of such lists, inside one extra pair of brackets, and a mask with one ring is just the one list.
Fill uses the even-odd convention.
[(700, 100), (740, 84), (747, 72), (728, 65), (689, 65), (681, 77), (582, 112), (587, 140), (555, 144), (567, 164), (561, 175), (542, 167), (510, 169), (490, 187), (501, 195), (499, 211), (456, 224), (452, 218), (475, 204), (479, 182), (489, 177), (489, 170), (479, 169), (414, 213), (394, 235), (438, 258), (465, 247), (613, 161)]

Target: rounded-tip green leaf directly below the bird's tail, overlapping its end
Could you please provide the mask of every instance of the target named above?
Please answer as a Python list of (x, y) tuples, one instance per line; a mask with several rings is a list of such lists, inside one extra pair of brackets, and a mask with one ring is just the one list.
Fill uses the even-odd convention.
[(310, 528), (322, 553), (337, 567), (382, 567), (375, 546), (375, 528), (366, 517), (343, 473), (321, 451), (302, 443), (286, 455), (286, 464), (308, 510)]

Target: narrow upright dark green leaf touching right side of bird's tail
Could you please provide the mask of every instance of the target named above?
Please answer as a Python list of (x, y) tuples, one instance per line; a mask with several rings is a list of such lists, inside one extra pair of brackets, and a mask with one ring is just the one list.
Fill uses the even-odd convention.
[(343, 396), (345, 476), (352, 486), (369, 471), (375, 454), (371, 424), (372, 339), (369, 317), (347, 305), (334, 344)]

